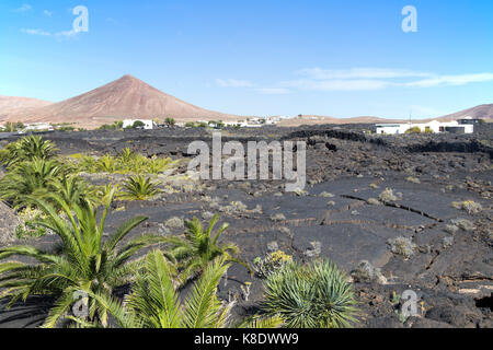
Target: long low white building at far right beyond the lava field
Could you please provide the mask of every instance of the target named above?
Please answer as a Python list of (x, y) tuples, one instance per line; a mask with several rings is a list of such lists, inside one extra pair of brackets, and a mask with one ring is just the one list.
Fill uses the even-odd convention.
[(405, 133), (413, 128), (420, 128), (421, 132), (455, 132), (455, 133), (473, 133), (473, 125), (459, 124), (458, 121), (438, 121), (419, 124), (377, 124), (377, 133), (400, 135)]

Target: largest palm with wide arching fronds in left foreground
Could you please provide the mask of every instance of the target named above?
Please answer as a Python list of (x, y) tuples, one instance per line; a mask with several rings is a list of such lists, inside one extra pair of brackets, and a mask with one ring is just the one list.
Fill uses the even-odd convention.
[[(121, 247), (128, 233), (147, 220), (137, 217), (103, 242), (105, 219), (113, 196), (114, 190), (107, 197), (99, 222), (98, 211), (87, 200), (69, 206), (60, 196), (53, 195), (53, 200), (62, 208), (64, 219), (46, 201), (32, 198), (46, 215), (39, 224), (57, 234), (61, 244), (50, 252), (33, 246), (1, 248), (0, 299), (11, 298), (11, 306), (21, 298), (25, 301), (28, 295), (56, 295), (57, 301), (44, 325), (55, 327), (74, 303), (73, 293), (110, 295), (115, 287), (126, 283), (141, 264), (139, 260), (130, 261), (135, 254), (162, 238), (140, 236)], [(35, 264), (5, 261), (13, 256), (28, 257)], [(107, 323), (106, 310), (96, 299), (89, 299), (89, 320), (103, 325)]]

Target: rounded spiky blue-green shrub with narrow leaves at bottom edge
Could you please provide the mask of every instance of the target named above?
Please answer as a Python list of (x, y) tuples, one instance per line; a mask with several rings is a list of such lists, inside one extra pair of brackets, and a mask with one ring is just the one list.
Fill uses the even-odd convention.
[(347, 276), (330, 261), (287, 264), (265, 281), (267, 315), (288, 328), (345, 328), (356, 323), (356, 300)]

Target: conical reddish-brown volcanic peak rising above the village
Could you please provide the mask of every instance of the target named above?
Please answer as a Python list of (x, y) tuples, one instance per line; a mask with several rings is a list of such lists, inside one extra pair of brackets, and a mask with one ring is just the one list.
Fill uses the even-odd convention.
[(168, 95), (131, 75), (124, 75), (82, 95), (38, 108), (0, 112), (0, 120), (24, 122), (77, 122), (98, 127), (124, 118), (237, 120), (238, 117), (203, 109)]

